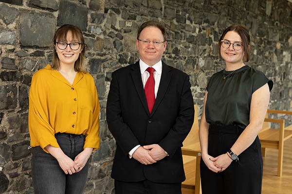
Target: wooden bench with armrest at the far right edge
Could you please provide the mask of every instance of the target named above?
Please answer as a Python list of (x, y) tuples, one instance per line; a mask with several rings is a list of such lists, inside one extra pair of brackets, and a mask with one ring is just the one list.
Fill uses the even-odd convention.
[[(262, 146), (262, 155), (265, 157), (266, 148), (278, 149), (277, 176), (282, 176), (284, 142), (292, 137), (292, 124), (285, 127), (284, 119), (269, 118), (269, 114), (292, 114), (291, 111), (268, 110), (264, 120), (263, 129), (258, 133)], [(278, 123), (279, 128), (271, 128), (271, 123)]]

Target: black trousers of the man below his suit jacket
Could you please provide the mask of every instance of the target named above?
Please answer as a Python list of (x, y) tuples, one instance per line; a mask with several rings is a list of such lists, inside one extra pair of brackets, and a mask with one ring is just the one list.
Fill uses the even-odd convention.
[(149, 180), (123, 182), (114, 180), (115, 194), (182, 194), (182, 183), (156, 183)]

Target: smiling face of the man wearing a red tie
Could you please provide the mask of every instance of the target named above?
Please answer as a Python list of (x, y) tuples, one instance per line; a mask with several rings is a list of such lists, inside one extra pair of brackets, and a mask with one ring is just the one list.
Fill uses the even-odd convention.
[[(136, 40), (136, 47), (139, 52), (140, 59), (144, 61), (147, 65), (152, 66), (158, 63), (166, 50), (166, 42), (164, 41), (164, 36), (161, 30), (154, 26), (146, 27), (142, 30), (139, 35), (139, 40)], [(158, 45), (154, 45), (152, 42), (145, 44), (143, 41), (157, 41), (161, 42)]]

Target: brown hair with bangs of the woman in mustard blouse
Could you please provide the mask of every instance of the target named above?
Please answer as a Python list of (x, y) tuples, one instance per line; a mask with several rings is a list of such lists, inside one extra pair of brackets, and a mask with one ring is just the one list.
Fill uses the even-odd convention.
[[(86, 45), (84, 44), (84, 37), (83, 37), (82, 31), (77, 26), (74, 26), (71, 24), (64, 24), (60, 28), (58, 28), (53, 38), (54, 45), (56, 44), (57, 40), (66, 40), (66, 36), (69, 31), (72, 32), (73, 38), (77, 39), (78, 41), (80, 41), (79, 43), (82, 44), (80, 45), (82, 51), (80, 52), (77, 61), (75, 61), (74, 70), (77, 72), (81, 71), (81, 72), (86, 73), (86, 69), (84, 65)], [(56, 49), (54, 47), (52, 68), (57, 70), (59, 68), (59, 65), (60, 65), (59, 58), (58, 58)]]

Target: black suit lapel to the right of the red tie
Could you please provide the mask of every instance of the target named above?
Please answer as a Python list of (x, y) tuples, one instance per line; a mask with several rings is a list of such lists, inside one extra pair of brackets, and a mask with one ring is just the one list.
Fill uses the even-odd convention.
[[(164, 95), (167, 91), (169, 82), (171, 80), (171, 69), (169, 68), (169, 66), (167, 66), (166, 64), (164, 64), (164, 62), (162, 62), (162, 74), (161, 74), (161, 79), (160, 79), (160, 83), (159, 83), (159, 88), (158, 88), (158, 92), (157, 92), (157, 96), (155, 99), (155, 103), (152, 109), (152, 112), (150, 115), (153, 115), (156, 111), (156, 109), (158, 108), (159, 104), (161, 103), (161, 101), (164, 98)], [(144, 95), (145, 96), (145, 95)], [(145, 97), (146, 99), (146, 97)]]

